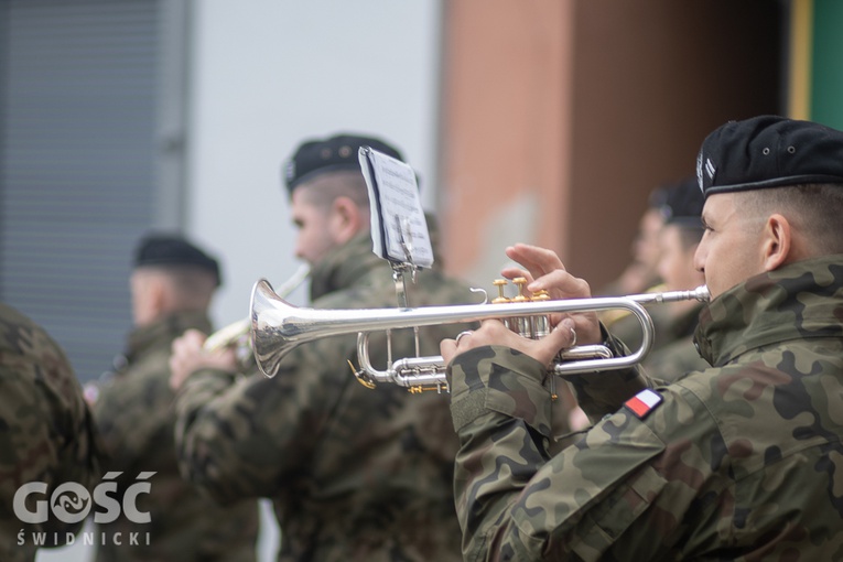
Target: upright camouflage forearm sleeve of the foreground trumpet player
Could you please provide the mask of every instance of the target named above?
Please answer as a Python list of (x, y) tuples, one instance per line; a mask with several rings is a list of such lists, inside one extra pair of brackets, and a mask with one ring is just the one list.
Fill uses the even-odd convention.
[(519, 352), (489, 346), (457, 356), (448, 375), (461, 442), (454, 490), (463, 554), (483, 560), (496, 550), (488, 536), (506, 528), (519, 491), (549, 458), (547, 369)]

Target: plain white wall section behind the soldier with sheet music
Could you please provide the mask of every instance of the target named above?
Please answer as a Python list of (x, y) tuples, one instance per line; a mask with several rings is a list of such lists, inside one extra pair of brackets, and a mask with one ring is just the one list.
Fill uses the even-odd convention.
[[(256, 280), (278, 285), (299, 266), (280, 169), (302, 139), (350, 130), (391, 140), (432, 208), (440, 3), (194, 6), (187, 233), (224, 260), (221, 326), (248, 315)], [(303, 304), (304, 294), (290, 300)]]

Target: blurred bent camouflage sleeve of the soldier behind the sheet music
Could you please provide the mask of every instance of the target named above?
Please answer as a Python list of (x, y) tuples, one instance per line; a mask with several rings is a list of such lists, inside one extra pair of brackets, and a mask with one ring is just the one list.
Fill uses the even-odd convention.
[(191, 375), (175, 398), (182, 474), (224, 504), (277, 494), (306, 463), (326, 404), (336, 401), (336, 385), (325, 382), (329, 349), (331, 342), (301, 346), (271, 379), (258, 371), (236, 381), (221, 371)]

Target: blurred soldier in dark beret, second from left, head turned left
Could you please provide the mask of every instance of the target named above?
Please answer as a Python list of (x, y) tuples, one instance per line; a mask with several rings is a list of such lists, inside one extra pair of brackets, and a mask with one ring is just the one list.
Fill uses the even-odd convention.
[(108, 455), (104, 468), (121, 473), (118, 498), (139, 474), (154, 473), (137, 501), (150, 521), (132, 522), (122, 512), (100, 523), (98, 562), (256, 560), (257, 501), (224, 508), (202, 495), (180, 475), (173, 442), (171, 345), (186, 329), (210, 331), (208, 306), (219, 283), (217, 260), (183, 237), (139, 241), (130, 279), (134, 327), (122, 368), (99, 389), (94, 413)]

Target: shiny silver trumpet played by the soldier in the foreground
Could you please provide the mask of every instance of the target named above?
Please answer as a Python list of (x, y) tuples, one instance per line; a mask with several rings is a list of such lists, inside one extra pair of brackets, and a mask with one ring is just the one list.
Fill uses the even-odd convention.
[[(258, 367), (266, 376), (273, 377), (283, 357), (298, 345), (356, 332), (360, 367), (355, 369), (355, 375), (367, 387), (371, 388), (378, 382), (391, 382), (407, 387), (411, 392), (446, 391), (446, 366), (442, 357), (409, 357), (392, 363), (389, 331), (499, 318), (521, 335), (538, 338), (545, 335), (550, 328), (550, 314), (626, 310), (638, 320), (644, 332), (641, 346), (635, 353), (614, 357), (612, 352), (602, 345), (577, 346), (563, 350), (552, 365), (552, 371), (556, 375), (605, 371), (633, 366), (649, 353), (652, 347), (653, 326), (652, 318), (644, 309), (645, 305), (709, 299), (709, 290), (704, 285), (691, 291), (556, 301), (549, 300), (547, 294), (538, 295), (537, 300), (522, 295), (508, 300), (502, 299), (501, 291), (501, 298), (484, 304), (318, 310), (293, 306), (275, 294), (272, 285), (262, 279), (255, 284), (251, 293), (251, 344)], [(502, 302), (504, 300), (507, 302)], [(387, 332), (388, 360), (391, 364), (387, 370), (378, 370), (369, 361), (369, 333), (378, 331)]]

